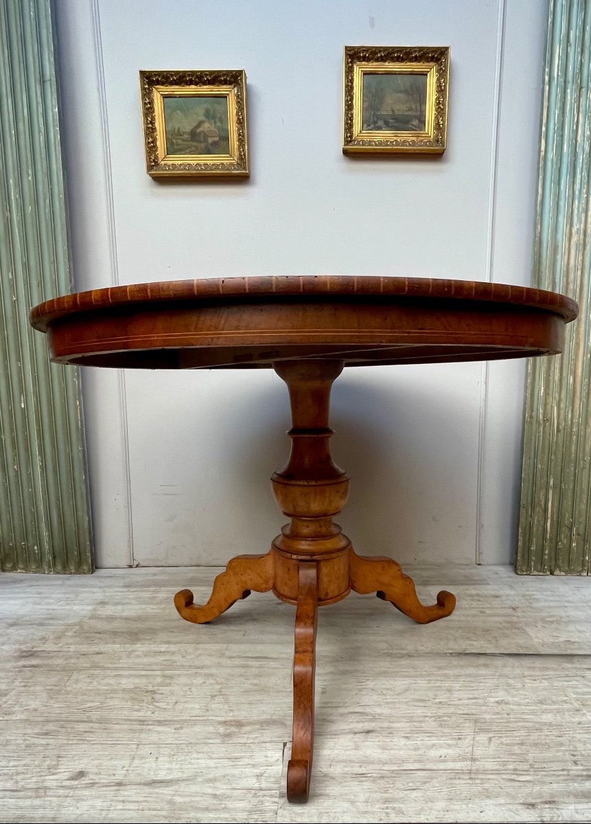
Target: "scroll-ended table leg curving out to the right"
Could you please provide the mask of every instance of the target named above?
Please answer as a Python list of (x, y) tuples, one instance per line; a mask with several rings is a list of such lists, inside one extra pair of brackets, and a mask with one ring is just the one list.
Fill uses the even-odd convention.
[(403, 573), (400, 564), (392, 558), (375, 555), (363, 558), (351, 550), (349, 559), (351, 589), (366, 595), (369, 592), (389, 601), (398, 610), (419, 624), (429, 624), (451, 615), (455, 607), (455, 596), (442, 590), (437, 595), (437, 603), (424, 606), (416, 596), (412, 578)]

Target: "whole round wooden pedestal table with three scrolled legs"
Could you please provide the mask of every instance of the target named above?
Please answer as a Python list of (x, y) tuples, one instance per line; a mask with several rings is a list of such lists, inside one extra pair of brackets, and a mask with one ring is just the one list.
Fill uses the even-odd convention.
[(360, 557), (333, 517), (348, 475), (330, 456), (330, 388), (343, 367), (524, 358), (560, 353), (568, 297), (537, 289), (379, 277), (251, 277), (142, 283), (58, 297), (35, 307), (58, 363), (149, 369), (273, 368), (291, 398), (291, 456), (272, 475), (290, 522), (266, 555), (240, 555), (218, 575), (207, 604), (184, 589), (175, 606), (195, 624), (251, 590), (296, 605), (294, 718), (287, 796), (306, 801), (314, 737), (318, 606), (375, 592), (421, 624), (449, 616), (432, 606), (390, 558)]

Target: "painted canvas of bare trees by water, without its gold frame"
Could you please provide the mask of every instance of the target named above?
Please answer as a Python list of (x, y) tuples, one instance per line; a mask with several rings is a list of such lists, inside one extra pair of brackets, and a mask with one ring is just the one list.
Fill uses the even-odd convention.
[(426, 74), (363, 75), (362, 129), (367, 132), (424, 132)]

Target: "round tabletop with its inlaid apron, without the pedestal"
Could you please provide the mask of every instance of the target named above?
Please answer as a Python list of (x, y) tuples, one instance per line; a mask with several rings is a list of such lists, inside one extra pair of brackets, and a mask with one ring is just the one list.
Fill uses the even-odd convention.
[(97, 289), (41, 303), (30, 321), (58, 363), (264, 368), (555, 354), (577, 312), (569, 297), (503, 283), (292, 275)]

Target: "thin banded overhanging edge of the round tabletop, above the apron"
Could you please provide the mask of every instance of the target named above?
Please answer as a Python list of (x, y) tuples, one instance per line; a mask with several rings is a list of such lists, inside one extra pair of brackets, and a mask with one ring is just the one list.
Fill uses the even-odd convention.
[(486, 301), (510, 303), (518, 307), (533, 307), (554, 312), (565, 323), (579, 314), (577, 303), (570, 297), (514, 286), (508, 283), (486, 283), (474, 280), (436, 278), (404, 278), (376, 275), (267, 275), (239, 278), (204, 278), (193, 280), (156, 281), (114, 286), (54, 297), (40, 303), (30, 312), (35, 329), (47, 331), (49, 323), (63, 316), (80, 312), (100, 311), (110, 307), (127, 307), (140, 303), (199, 302), (211, 303), (228, 298), (257, 299), (277, 302), (293, 297), (398, 297), (432, 298), (451, 301)]

